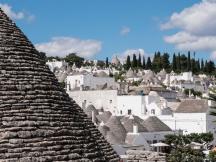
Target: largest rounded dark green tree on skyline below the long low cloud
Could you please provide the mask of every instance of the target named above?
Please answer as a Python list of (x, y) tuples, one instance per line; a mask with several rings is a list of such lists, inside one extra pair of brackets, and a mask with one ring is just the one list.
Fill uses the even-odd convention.
[(71, 53), (65, 57), (65, 61), (68, 62), (70, 66), (75, 63), (77, 67), (81, 67), (83, 65), (84, 58), (77, 56), (76, 53)]

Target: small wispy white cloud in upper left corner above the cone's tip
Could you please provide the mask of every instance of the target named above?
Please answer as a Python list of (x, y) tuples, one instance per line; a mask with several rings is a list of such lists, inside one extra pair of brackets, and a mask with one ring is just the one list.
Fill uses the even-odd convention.
[(15, 12), (13, 11), (12, 7), (8, 4), (2, 4), (0, 3), (0, 8), (11, 18), (14, 20), (21, 20), (21, 19), (26, 19), (27, 21), (32, 21), (35, 16), (32, 14), (28, 14), (25, 12)]

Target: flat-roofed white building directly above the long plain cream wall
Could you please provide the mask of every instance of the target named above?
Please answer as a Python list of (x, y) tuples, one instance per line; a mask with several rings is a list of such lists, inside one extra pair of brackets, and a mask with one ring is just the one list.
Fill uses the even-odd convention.
[(78, 74), (67, 76), (67, 91), (85, 88), (88, 89), (97, 89), (98, 86), (103, 86), (107, 84), (107, 87), (116, 88), (116, 83), (114, 78), (111, 77), (95, 77), (93, 74)]

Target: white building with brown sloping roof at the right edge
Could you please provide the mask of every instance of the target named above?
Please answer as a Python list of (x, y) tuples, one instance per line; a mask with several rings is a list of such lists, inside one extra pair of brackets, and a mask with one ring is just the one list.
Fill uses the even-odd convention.
[(211, 116), (208, 100), (187, 99), (180, 103), (173, 115), (159, 116), (172, 130), (183, 134), (212, 132), (216, 137), (215, 117)]

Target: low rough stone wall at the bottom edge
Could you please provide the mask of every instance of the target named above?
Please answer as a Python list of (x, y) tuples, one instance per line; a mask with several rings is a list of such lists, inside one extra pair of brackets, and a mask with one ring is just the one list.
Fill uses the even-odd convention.
[(166, 154), (145, 151), (145, 150), (128, 150), (127, 162), (166, 162)]

